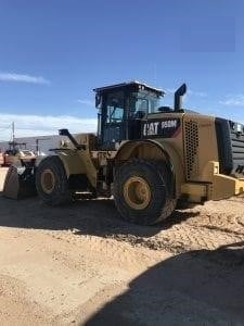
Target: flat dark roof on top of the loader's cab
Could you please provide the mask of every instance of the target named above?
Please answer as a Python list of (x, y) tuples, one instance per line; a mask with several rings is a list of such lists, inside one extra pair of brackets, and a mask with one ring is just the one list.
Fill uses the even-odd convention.
[(165, 91), (152, 86), (149, 86), (144, 83), (140, 83), (138, 80), (132, 80), (132, 82), (125, 82), (125, 83), (120, 83), (120, 84), (114, 84), (114, 85), (107, 85), (104, 87), (99, 87), (99, 88), (94, 88), (93, 91), (95, 91), (97, 93), (102, 93), (102, 92), (107, 92), (111, 90), (118, 90), (118, 89), (130, 89), (132, 91), (138, 91), (138, 90), (147, 90), (151, 92), (156, 93), (156, 96), (164, 96)]

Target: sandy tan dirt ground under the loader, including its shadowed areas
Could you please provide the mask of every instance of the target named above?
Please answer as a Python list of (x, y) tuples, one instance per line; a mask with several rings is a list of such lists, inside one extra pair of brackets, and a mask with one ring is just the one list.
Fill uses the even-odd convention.
[(123, 222), (0, 197), (1, 325), (244, 325), (244, 199)]

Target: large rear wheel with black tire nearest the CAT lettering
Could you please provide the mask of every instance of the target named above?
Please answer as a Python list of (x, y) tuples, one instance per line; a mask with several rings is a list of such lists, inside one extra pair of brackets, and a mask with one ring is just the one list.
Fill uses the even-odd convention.
[(176, 206), (170, 180), (164, 162), (131, 160), (116, 168), (114, 199), (123, 218), (152, 225), (168, 217)]

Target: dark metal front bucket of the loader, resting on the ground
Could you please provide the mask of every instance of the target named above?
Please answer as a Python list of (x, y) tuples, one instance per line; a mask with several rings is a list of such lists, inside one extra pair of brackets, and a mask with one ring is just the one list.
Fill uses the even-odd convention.
[(2, 195), (12, 199), (37, 195), (34, 168), (11, 166), (5, 176)]

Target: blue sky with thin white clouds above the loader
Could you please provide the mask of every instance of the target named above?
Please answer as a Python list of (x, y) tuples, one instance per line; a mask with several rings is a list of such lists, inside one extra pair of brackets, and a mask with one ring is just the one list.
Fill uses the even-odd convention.
[(243, 0), (1, 0), (0, 139), (95, 131), (92, 89), (142, 80), (244, 122)]

